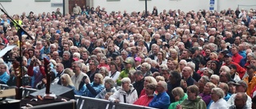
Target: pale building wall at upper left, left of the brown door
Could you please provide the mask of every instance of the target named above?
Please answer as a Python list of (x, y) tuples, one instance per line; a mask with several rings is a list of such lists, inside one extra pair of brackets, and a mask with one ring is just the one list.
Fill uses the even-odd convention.
[[(34, 2), (34, 0), (11, 0), (11, 2), (1, 3), (2, 6), (6, 9), (7, 13), (10, 15), (22, 14), (22, 12), (29, 14), (30, 11), (33, 11), (34, 14), (42, 14), (42, 12), (51, 13), (52, 11), (56, 11), (57, 8), (60, 8), (61, 12), (63, 12), (63, 6), (51, 6), (51, 3), (62, 3), (62, 0), (50, 0), (50, 2)], [(2, 14), (2, 11), (0, 14)]]

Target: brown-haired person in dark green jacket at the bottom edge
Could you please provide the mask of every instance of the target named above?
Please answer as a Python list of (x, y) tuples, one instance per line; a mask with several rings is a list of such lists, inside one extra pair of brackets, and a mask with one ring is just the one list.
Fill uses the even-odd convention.
[(199, 88), (196, 85), (191, 85), (186, 89), (187, 99), (178, 104), (176, 109), (206, 109), (206, 103), (199, 96)]

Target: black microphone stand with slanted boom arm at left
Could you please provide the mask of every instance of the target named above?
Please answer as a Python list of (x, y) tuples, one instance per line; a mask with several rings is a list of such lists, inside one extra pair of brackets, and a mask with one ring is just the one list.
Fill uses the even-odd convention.
[(0, 10), (2, 11), (2, 13), (6, 14), (6, 16), (8, 18), (10, 18), (11, 21), (13, 21), (13, 23), (16, 25), (16, 27), (18, 27), (18, 32), (17, 32), (17, 35), (18, 35), (18, 40), (19, 40), (19, 56), (17, 57), (16, 60), (19, 61), (19, 66), (20, 66), (20, 75), (19, 76), (16, 76), (17, 78), (17, 83), (16, 83), (16, 96), (15, 96), (15, 99), (22, 99), (22, 76), (24, 76), (23, 74), (23, 68), (22, 68), (22, 32), (26, 33), (26, 35), (28, 37), (30, 37), (31, 39), (34, 40), (33, 37), (30, 36), (29, 33), (26, 32), (25, 29), (22, 28), (21, 25), (18, 25), (18, 22), (14, 21), (13, 18), (10, 17), (9, 14), (6, 13), (5, 10), (2, 10), (2, 8), (0, 8)]

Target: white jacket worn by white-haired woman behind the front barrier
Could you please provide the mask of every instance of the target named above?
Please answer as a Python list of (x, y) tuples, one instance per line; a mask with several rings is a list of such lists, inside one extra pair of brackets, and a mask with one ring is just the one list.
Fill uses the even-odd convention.
[(127, 95), (126, 91), (119, 89), (115, 91), (113, 95), (110, 95), (109, 100), (114, 103), (115, 99), (119, 99), (120, 103), (125, 103), (124, 95), (126, 96), (126, 103), (134, 103), (138, 99), (138, 94), (136, 89), (131, 85), (130, 94)]

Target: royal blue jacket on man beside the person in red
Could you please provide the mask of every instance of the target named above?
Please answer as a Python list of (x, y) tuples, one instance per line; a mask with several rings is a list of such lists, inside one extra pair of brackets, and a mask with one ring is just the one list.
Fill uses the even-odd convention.
[(160, 109), (168, 109), (170, 105), (170, 96), (166, 93), (166, 91), (162, 93), (158, 93), (158, 95), (154, 95), (154, 98), (149, 104), (149, 107), (155, 107)]

